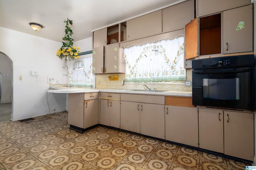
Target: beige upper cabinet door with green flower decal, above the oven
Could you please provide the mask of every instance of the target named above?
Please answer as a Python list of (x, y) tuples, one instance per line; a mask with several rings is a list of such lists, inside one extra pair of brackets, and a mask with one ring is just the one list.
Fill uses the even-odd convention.
[(223, 12), (223, 53), (253, 51), (252, 4)]

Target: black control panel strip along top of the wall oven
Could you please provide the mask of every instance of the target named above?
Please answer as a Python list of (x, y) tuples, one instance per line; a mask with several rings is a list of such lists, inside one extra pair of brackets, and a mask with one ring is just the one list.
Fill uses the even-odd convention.
[(216, 57), (192, 61), (192, 69), (255, 66), (254, 55)]

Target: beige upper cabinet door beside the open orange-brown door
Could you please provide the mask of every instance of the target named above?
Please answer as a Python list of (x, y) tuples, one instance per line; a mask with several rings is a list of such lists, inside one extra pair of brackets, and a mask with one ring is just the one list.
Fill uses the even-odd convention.
[(163, 32), (182, 29), (191, 20), (194, 20), (194, 0), (162, 9)]

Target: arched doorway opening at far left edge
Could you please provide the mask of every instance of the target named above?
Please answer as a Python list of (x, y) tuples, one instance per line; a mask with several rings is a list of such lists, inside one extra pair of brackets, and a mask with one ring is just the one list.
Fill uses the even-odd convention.
[(12, 115), (13, 64), (12, 60), (0, 52), (0, 122), (9, 121)]

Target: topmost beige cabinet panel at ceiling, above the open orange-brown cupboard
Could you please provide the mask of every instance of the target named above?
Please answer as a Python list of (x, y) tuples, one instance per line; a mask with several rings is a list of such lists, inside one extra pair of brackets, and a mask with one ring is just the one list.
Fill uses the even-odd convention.
[(196, 0), (196, 16), (204, 16), (250, 4), (251, 0)]

